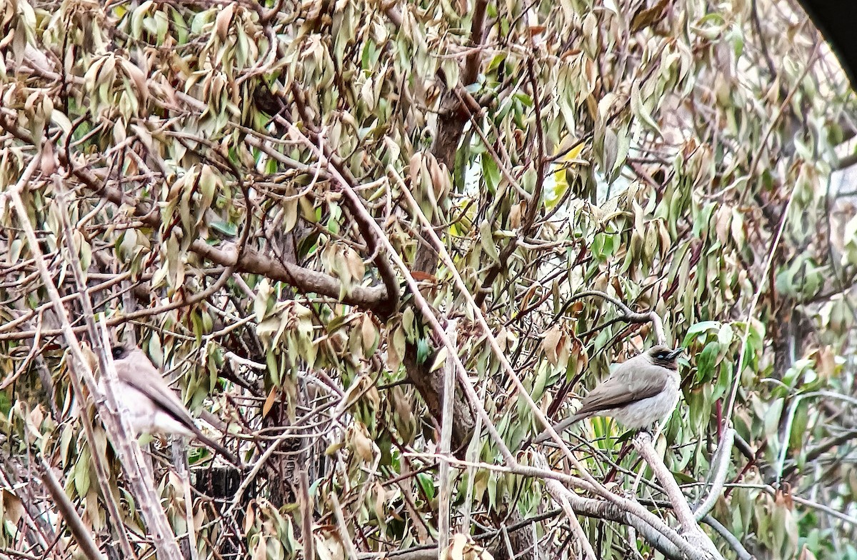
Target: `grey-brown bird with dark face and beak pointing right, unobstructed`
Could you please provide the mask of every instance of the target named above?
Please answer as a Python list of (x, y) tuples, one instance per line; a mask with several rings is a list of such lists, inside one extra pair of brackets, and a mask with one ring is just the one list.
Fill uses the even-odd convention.
[[(683, 352), (668, 346), (652, 346), (646, 352), (626, 360), (584, 397), (571, 417), (554, 426), (566, 430), (584, 418), (610, 416), (627, 428), (640, 429), (666, 418), (679, 403), (679, 364)], [(543, 431), (533, 443), (550, 439)]]

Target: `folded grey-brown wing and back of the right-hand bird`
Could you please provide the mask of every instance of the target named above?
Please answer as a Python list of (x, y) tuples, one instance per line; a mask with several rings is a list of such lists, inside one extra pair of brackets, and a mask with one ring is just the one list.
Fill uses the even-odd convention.
[(663, 368), (632, 358), (592, 389), (574, 416), (585, 418), (596, 412), (648, 399), (660, 393), (668, 379), (668, 372)]

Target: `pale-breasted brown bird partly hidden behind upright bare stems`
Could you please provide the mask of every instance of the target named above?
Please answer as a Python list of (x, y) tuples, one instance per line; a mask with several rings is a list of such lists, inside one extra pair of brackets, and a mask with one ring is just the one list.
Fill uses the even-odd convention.
[[(111, 352), (117, 374), (115, 396), (128, 408), (129, 423), (137, 435), (195, 437), (223, 455), (226, 461), (239, 464), (228, 449), (201, 431), (182, 400), (140, 348), (113, 346)], [(103, 382), (102, 379), (99, 383)]]

